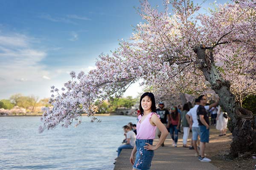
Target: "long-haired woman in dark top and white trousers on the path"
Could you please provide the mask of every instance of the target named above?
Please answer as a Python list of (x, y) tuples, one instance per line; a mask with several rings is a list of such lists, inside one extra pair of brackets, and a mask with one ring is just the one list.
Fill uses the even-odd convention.
[(188, 147), (187, 146), (187, 140), (189, 137), (189, 123), (186, 119), (186, 113), (188, 113), (189, 111), (189, 105), (187, 103), (185, 103), (183, 105), (183, 111), (181, 112), (181, 116), (182, 116), (182, 127), (183, 127), (183, 147)]

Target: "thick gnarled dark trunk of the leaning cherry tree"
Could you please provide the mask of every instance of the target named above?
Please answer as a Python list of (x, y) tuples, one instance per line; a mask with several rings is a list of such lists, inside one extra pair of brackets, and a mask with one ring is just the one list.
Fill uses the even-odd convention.
[[(211, 50), (211, 49), (210, 49)], [(231, 118), (229, 130), (233, 135), (230, 151), (233, 158), (245, 152), (256, 153), (256, 130), (253, 129), (253, 113), (239, 106), (230, 92), (230, 83), (221, 77), (214, 64), (212, 52), (208, 59), (204, 45), (195, 47), (198, 64), (205, 79), (211, 84), (212, 90), (220, 97), (220, 105)]]

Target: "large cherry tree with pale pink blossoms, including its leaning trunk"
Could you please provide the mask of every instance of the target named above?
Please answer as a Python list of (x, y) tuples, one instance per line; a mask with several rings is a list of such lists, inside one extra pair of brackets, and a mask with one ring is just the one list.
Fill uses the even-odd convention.
[[(139, 81), (150, 87), (157, 99), (180, 92), (214, 91), (232, 120), (232, 156), (256, 152), (253, 114), (241, 108), (234, 96), (236, 90), (232, 90), (236, 83), (241, 85), (233, 81), (239, 76), (246, 75), (247, 86), (255, 85), (250, 81), (255, 81), (256, 3), (235, 0), (215, 5), (209, 14), (198, 14), (200, 5), (172, 0), (173, 13), (169, 14), (169, 0), (164, 11), (152, 8), (146, 0), (140, 2), (137, 11), (145, 23), (134, 28), (130, 40), (121, 40), (111, 56), (101, 54), (96, 69), (88, 74), (71, 72), (72, 80), (61, 91), (52, 86), (52, 107), (45, 108), (39, 130), (58, 124), (68, 127), (73, 120), (79, 124), (84, 112), (95, 120), (96, 99), (122, 94)], [(243, 64), (233, 67), (236, 62)]]

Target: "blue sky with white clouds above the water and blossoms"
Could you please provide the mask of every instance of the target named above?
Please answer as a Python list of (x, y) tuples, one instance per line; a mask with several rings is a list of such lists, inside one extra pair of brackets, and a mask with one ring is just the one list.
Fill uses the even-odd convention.
[[(149, 2), (162, 8), (162, 0)], [(139, 6), (139, 0), (0, 0), (0, 99), (48, 98), (50, 86), (63, 87), (70, 71), (94, 69), (99, 54), (111, 54), (143, 22)], [(124, 96), (141, 91), (134, 84)]]

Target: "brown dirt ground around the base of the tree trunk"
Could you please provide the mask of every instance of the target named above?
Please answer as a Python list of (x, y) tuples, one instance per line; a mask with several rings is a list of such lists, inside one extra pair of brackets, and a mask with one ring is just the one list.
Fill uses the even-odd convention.
[(255, 170), (256, 159), (252, 157), (249, 159), (229, 159), (228, 153), (232, 141), (230, 131), (227, 131), (225, 136), (218, 136), (219, 130), (216, 130), (214, 126), (211, 126), (210, 129), (210, 142), (206, 144), (205, 153), (207, 153), (207, 157), (212, 159), (212, 164), (220, 170)]

